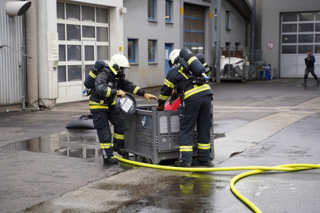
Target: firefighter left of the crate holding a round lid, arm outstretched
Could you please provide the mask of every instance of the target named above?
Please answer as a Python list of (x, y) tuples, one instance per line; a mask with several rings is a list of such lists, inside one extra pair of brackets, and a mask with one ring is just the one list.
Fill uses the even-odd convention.
[[(117, 163), (118, 160), (114, 158), (113, 151), (118, 152), (121, 156), (125, 155), (123, 151), (125, 124), (122, 113), (118, 116), (115, 113), (117, 96), (123, 97), (125, 92), (129, 92), (143, 96), (149, 103), (151, 98), (157, 100), (157, 97), (146, 93), (139, 86), (125, 79), (125, 69), (130, 66), (124, 55), (113, 55), (108, 64), (98, 60), (93, 68), (100, 67), (101, 64), (103, 68), (98, 75), (91, 72), (91, 69), (84, 81), (84, 86), (90, 88), (88, 92), (90, 94), (90, 113), (93, 126), (97, 129), (103, 161)], [(109, 121), (114, 125), (113, 146)]]

